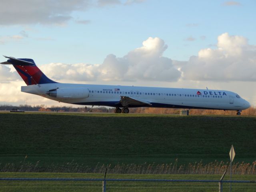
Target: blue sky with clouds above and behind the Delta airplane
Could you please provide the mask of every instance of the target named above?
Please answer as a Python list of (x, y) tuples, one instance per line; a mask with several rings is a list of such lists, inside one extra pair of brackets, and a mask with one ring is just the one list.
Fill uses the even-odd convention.
[[(1, 0), (0, 54), (57, 82), (230, 90), (256, 106), (254, 0)], [(2, 57), (0, 62), (6, 61)], [(0, 65), (0, 104), (68, 105), (20, 92)]]

